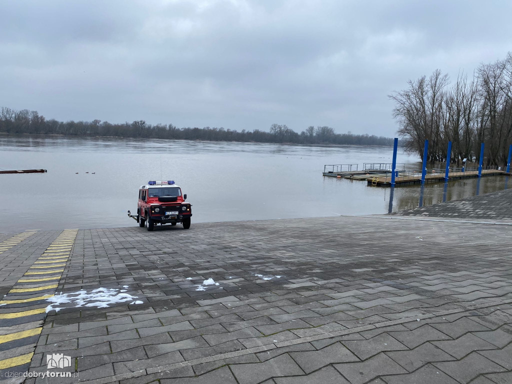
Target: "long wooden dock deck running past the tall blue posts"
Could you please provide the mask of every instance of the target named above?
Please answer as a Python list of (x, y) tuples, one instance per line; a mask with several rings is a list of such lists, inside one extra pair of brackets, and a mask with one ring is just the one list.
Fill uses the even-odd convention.
[[(504, 170), (486, 169), (482, 170), (482, 176), (510, 176), (512, 174), (506, 173)], [(478, 170), (470, 170), (468, 172), (450, 172), (448, 174), (450, 180), (468, 179), (478, 177)], [(368, 185), (379, 187), (391, 186), (391, 174), (387, 176), (373, 176), (367, 178)], [(430, 174), (425, 176), (425, 183), (439, 183), (444, 182), (444, 173)], [(414, 173), (413, 175), (397, 176), (395, 178), (395, 186), (421, 184), (421, 174)]]

